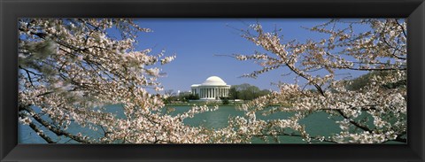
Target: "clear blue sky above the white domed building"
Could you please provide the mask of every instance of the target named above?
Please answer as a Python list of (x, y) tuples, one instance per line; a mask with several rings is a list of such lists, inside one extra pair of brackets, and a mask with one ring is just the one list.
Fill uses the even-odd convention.
[(173, 62), (161, 66), (165, 77), (159, 78), (165, 89), (187, 91), (190, 85), (202, 83), (209, 76), (219, 76), (229, 85), (249, 83), (259, 89), (276, 89), (272, 82), (293, 82), (288, 69), (277, 69), (259, 75), (259, 78), (240, 78), (243, 73), (259, 70), (251, 61), (214, 55), (251, 54), (264, 51), (240, 36), (236, 29), (247, 29), (257, 21), (266, 31), (282, 28), (283, 42), (297, 39), (318, 39), (326, 35), (313, 33), (302, 27), (313, 27), (328, 19), (135, 19), (141, 27), (153, 30), (141, 33), (136, 50), (152, 49), (152, 54), (166, 50), (176, 55)]

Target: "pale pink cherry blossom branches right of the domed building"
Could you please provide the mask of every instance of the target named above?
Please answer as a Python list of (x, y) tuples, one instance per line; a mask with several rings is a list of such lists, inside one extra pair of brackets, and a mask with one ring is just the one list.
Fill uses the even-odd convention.
[[(369, 30), (358, 32), (358, 27)], [(282, 36), (264, 31), (259, 23), (243, 30), (243, 38), (267, 51), (234, 55), (261, 67), (243, 76), (255, 78), (286, 68), (297, 77), (294, 83), (279, 84), (279, 91), (240, 106), (247, 113), (235, 122), (241, 125), (251, 119), (248, 112), (295, 112), (289, 120), (256, 120), (262, 124), (245, 122), (244, 127), (257, 130), (260, 136), (288, 135), (284, 128), (290, 128), (307, 143), (406, 143), (406, 19), (332, 19), (309, 30), (329, 36), (282, 43)], [(347, 77), (336, 77), (341, 70)], [(353, 89), (349, 77), (355, 71), (368, 72), (371, 77)], [(327, 137), (308, 135), (299, 120), (314, 112), (327, 112), (341, 132)]]

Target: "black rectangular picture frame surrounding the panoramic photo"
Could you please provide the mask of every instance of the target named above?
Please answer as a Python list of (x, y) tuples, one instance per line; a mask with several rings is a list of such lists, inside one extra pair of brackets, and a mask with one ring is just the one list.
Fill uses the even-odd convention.
[[(1, 0), (0, 161), (424, 161), (423, 0)], [(407, 144), (18, 144), (19, 18), (407, 18)]]

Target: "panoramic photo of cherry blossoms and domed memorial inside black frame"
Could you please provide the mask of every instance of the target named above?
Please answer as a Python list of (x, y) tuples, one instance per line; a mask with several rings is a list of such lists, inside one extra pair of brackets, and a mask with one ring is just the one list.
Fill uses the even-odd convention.
[(19, 19), (18, 143), (407, 143), (406, 19)]

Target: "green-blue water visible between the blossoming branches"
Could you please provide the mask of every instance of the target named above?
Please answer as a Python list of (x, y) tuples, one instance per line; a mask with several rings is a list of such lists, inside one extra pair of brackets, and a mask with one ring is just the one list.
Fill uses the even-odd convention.
[[(173, 107), (174, 112), (171, 112), (171, 115), (175, 115), (177, 113), (187, 112), (190, 109), (190, 106), (167, 106)], [(123, 115), (120, 104), (110, 105), (106, 107), (107, 112), (113, 112), (117, 115)], [(284, 113), (278, 112), (268, 116), (263, 116), (260, 113), (257, 113), (257, 118), (261, 120), (275, 120), (275, 119), (288, 119), (293, 113)], [(220, 106), (217, 111), (214, 112), (203, 112), (197, 114), (192, 119), (184, 120), (185, 124), (191, 126), (204, 126), (204, 127), (213, 127), (220, 128), (226, 127), (228, 124), (229, 117), (243, 116), (243, 112), (236, 109), (235, 106)], [(334, 120), (328, 119), (328, 113), (326, 112), (315, 112), (301, 120), (300, 123), (306, 126), (306, 131), (310, 136), (315, 135), (332, 135), (339, 133), (341, 131), (340, 127), (336, 125)], [(335, 117), (333, 117), (335, 118)], [(68, 128), (68, 131), (72, 133), (81, 132), (82, 135), (90, 135), (90, 136), (100, 136), (100, 132), (94, 132), (89, 130), (88, 128), (79, 127), (76, 124), (71, 124)], [(56, 136), (48, 130), (44, 129), (44, 133), (50, 136)], [(55, 138), (53, 138), (55, 139)], [(69, 138), (59, 137), (58, 143), (74, 143), (70, 141)], [(305, 143), (300, 137), (296, 136), (282, 136), (279, 138), (280, 143)], [(18, 143), (46, 143), (40, 136), (36, 135), (36, 133), (27, 125), (20, 125), (18, 129)], [(253, 139), (251, 143), (264, 143), (264, 141), (260, 139)]]

